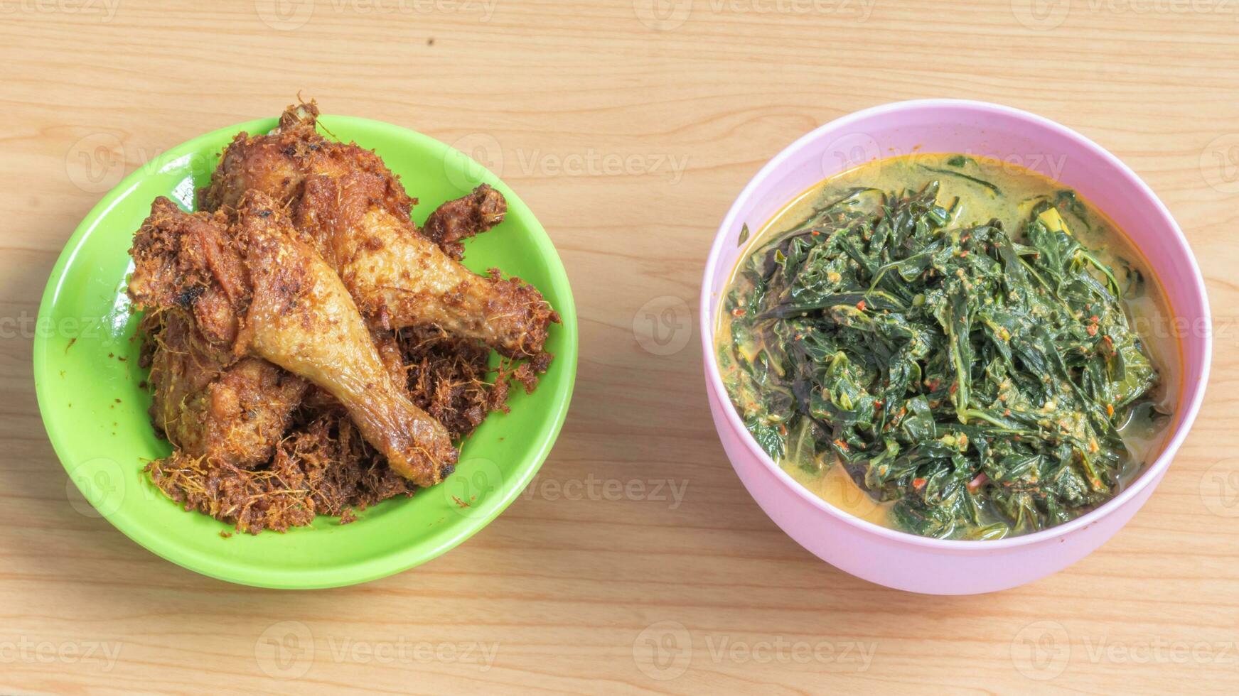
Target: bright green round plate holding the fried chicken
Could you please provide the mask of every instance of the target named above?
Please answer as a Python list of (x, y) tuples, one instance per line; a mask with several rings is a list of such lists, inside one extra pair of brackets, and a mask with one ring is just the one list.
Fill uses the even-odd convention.
[[(486, 526), (529, 484), (567, 414), (576, 376), (576, 308), (567, 275), (529, 207), (462, 152), (390, 124), (321, 116), (339, 140), (375, 150), (421, 199), (420, 223), (441, 201), (481, 182), (508, 199), (507, 219), (467, 243), (475, 271), (501, 268), (543, 292), (559, 311), (546, 349), (555, 354), (533, 394), (513, 389), (512, 412), (491, 414), (462, 443), (461, 463), (444, 483), (385, 500), (341, 525), (318, 516), (285, 534), (233, 534), (232, 526), (185, 511), (155, 488), (142, 467), (171, 447), (156, 437), (150, 395), (138, 367), (138, 317), (124, 294), (129, 245), (156, 196), (188, 209), (219, 151), (244, 130), (266, 133), (275, 119), (217, 130), (164, 152), (104, 196), (69, 238), (38, 308), (35, 389), (47, 436), (82, 495), (130, 539), (203, 575), (258, 587), (313, 588), (367, 582), (456, 546)], [(93, 513), (90, 508), (83, 511)], [(223, 533), (223, 534), (222, 534)]]

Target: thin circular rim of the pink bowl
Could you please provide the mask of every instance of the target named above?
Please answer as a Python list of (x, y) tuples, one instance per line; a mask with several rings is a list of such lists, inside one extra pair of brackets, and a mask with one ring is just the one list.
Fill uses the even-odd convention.
[[(717, 355), (714, 349), (714, 327), (710, 321), (711, 310), (714, 308), (715, 300), (711, 296), (711, 280), (716, 277), (717, 274), (712, 272), (712, 269), (719, 263), (719, 256), (722, 254), (724, 244), (727, 243), (733, 235), (735, 223), (740, 217), (741, 204), (751, 198), (767, 178), (773, 176), (781, 167), (781, 165), (790, 159), (793, 155), (810, 146), (814, 141), (823, 136), (823, 134), (846, 129), (856, 124), (864, 123), (875, 116), (886, 115), (895, 111), (918, 111), (923, 109), (940, 109), (950, 108), (958, 110), (971, 110), (976, 113), (989, 113), (997, 114), (1007, 118), (1014, 118), (1017, 120), (1023, 120), (1030, 125), (1047, 129), (1056, 133), (1057, 135), (1064, 136), (1072, 141), (1077, 147), (1090, 151), (1101, 160), (1106, 161), (1113, 166), (1123, 177), (1123, 182), (1126, 186), (1134, 187), (1140, 194), (1150, 199), (1154, 204), (1157, 214), (1161, 215), (1162, 223), (1173, 232), (1173, 244), (1177, 245), (1178, 250), (1188, 261), (1188, 271), (1192, 280), (1193, 290), (1197, 294), (1197, 298), (1201, 302), (1201, 308), (1203, 312), (1203, 318), (1206, 326), (1212, 326), (1212, 313), (1209, 310), (1209, 297), (1204, 289), (1204, 279), (1201, 275), (1201, 268), (1197, 264), (1196, 256), (1192, 254), (1192, 249), (1187, 243), (1187, 237), (1183, 235), (1183, 230), (1180, 229), (1178, 223), (1175, 217), (1162, 203), (1161, 198), (1154, 193), (1152, 188), (1145, 183), (1144, 180), (1136, 175), (1127, 165), (1114, 156), (1109, 150), (1101, 147), (1097, 142), (1093, 142), (1084, 135), (1077, 133), (1075, 130), (1067, 128), (1057, 121), (1040, 116), (1031, 111), (1025, 111), (1022, 109), (1016, 109), (1014, 107), (1006, 107), (1002, 104), (995, 104), (991, 102), (981, 102), (974, 99), (909, 99), (903, 102), (891, 102), (887, 104), (878, 104), (866, 109), (860, 109), (850, 114), (843, 115), (838, 119), (830, 120), (812, 131), (802, 135), (790, 145), (781, 150), (774, 157), (772, 157), (766, 165), (753, 176), (752, 180), (745, 186), (736, 197), (736, 201), (731, 204), (727, 211), (726, 217), (722, 219), (722, 224), (719, 225), (719, 232), (715, 235), (714, 244), (710, 248), (710, 255), (705, 265), (705, 275), (701, 280), (701, 298), (699, 306), (699, 329), (701, 333), (703, 353), (706, 367), (706, 381), (711, 398), (717, 398), (720, 401), (725, 402), (725, 407), (721, 409), (724, 417), (732, 430), (742, 433), (741, 440), (745, 447), (747, 447), (748, 453), (760, 461), (774, 477), (784, 485), (784, 488), (792, 489), (792, 492), (798, 495), (802, 500), (809, 503), (810, 505), (818, 508), (825, 514), (835, 518), (839, 521), (859, 528), (862, 531), (875, 534), (880, 537), (898, 542), (908, 544), (912, 546), (919, 546), (924, 549), (935, 550), (952, 550), (952, 551), (969, 551), (969, 552), (986, 552), (996, 551), (1004, 549), (1015, 549), (1018, 546), (1032, 546), (1043, 541), (1054, 540), (1067, 534), (1082, 530), (1097, 523), (1101, 518), (1106, 516), (1111, 511), (1121, 508), (1129, 500), (1139, 497), (1145, 488), (1150, 485), (1156, 485), (1156, 482), (1161, 479), (1161, 476), (1170, 467), (1170, 462), (1175, 453), (1178, 451), (1183, 440), (1187, 437), (1188, 431), (1192, 428), (1192, 424), (1196, 421), (1196, 416), (1201, 410), (1201, 404), (1204, 400), (1204, 390), (1209, 380), (1209, 367), (1213, 360), (1213, 342), (1208, 333), (1199, 337), (1203, 343), (1203, 355), (1201, 360), (1201, 379), (1196, 384), (1184, 384), (1184, 399), (1187, 404), (1186, 412), (1183, 414), (1182, 425), (1171, 435), (1170, 441), (1162, 447), (1161, 453), (1127, 488), (1121, 490), (1114, 498), (1106, 500), (1105, 503), (1098, 505), (1095, 509), (1073, 519), (1061, 525), (1056, 525), (1041, 531), (1032, 534), (1025, 534), (1020, 536), (1007, 536), (1004, 539), (995, 540), (959, 540), (959, 539), (937, 539), (932, 536), (921, 536), (917, 534), (900, 531), (896, 529), (890, 529), (861, 518), (852, 515), (851, 513), (844, 511), (830, 503), (826, 503), (821, 498), (812, 494), (805, 487), (795, 482), (787, 472), (784, 472), (774, 461), (767, 455), (761, 447), (758, 447), (757, 441), (753, 440), (752, 433), (745, 427), (743, 422), (740, 420), (740, 415), (736, 412), (735, 405), (731, 402), (727, 390), (722, 384), (722, 378), (719, 374), (719, 362)], [(1184, 339), (1186, 343), (1187, 339)], [(1184, 352), (1186, 353), (1186, 352)], [(1186, 359), (1186, 358), (1184, 358)]]

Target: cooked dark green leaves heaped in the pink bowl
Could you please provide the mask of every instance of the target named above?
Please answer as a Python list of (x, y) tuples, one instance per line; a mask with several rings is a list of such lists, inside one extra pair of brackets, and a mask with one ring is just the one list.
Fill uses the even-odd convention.
[(720, 350), (732, 401), (773, 458), (838, 459), (904, 530), (1064, 523), (1116, 493), (1119, 427), (1157, 370), (1054, 206), (1074, 194), (1015, 233), (953, 227), (937, 197), (854, 188), (746, 258)]

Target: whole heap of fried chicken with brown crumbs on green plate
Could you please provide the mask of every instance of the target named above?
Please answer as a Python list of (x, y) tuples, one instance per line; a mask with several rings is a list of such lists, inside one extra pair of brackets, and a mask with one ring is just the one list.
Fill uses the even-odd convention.
[[(151, 420), (173, 445), (151, 481), (187, 510), (256, 534), (339, 524), (442, 481), (452, 441), (533, 391), (558, 315), (497, 270), (460, 261), (501, 223), (482, 185), (422, 229), (383, 161), (316, 131), (313, 103), (239, 135), (190, 214), (151, 206), (129, 295)], [(491, 350), (509, 358), (491, 367)]]

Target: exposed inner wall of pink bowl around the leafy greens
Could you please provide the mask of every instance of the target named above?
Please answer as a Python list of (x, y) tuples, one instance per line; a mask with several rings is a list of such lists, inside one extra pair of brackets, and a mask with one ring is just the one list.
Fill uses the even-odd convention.
[[(727, 401), (732, 426), (743, 431), (755, 457), (777, 468), (756, 442), (747, 437), (747, 430), (735, 415), (719, 378), (712, 348), (719, 300), (737, 260), (747, 250), (747, 245), (741, 243), (742, 229), (747, 225), (756, 233), (794, 196), (826, 177), (873, 160), (913, 152), (960, 152), (991, 157), (1057, 180), (1109, 214), (1146, 258), (1173, 313), (1171, 326), (1151, 329), (1172, 332), (1170, 336), (1177, 339), (1181, 354), (1170, 359), (1175, 359), (1178, 363), (1176, 367), (1182, 372), (1178, 407), (1173, 416), (1175, 433), (1162, 456), (1146, 467), (1140, 479), (1120, 495), (1135, 493), (1141, 482), (1155, 478), (1168, 464), (1170, 455), (1177, 450), (1203, 396), (1209, 358), (1209, 313), (1199, 270), (1165, 206), (1118, 159), (1047, 119), (995, 104), (926, 100), (859, 111), (826, 124), (788, 146), (750, 182), (715, 240), (706, 268), (701, 306), (701, 332), (707, 343), (707, 380), (712, 391)], [(787, 483), (799, 488), (790, 478), (787, 478)], [(1114, 502), (1068, 524), (1087, 524), (1087, 518), (1100, 513), (1111, 503)], [(829, 507), (824, 502), (820, 504)], [(845, 513), (838, 514), (869, 525)], [(1061, 528), (1056, 530), (1066, 531)], [(1035, 536), (1037, 535), (1012, 537), (1002, 542), (1021, 542), (1020, 540), (1027, 541)]]

